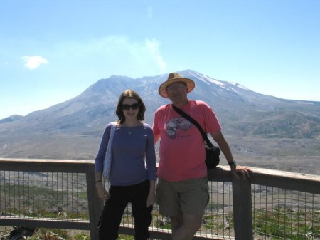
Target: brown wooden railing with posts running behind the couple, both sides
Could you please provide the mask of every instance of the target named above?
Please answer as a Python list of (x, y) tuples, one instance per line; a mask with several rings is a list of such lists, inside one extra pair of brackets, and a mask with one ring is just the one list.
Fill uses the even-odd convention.
[[(211, 182), (232, 182), (234, 238), (236, 240), (253, 239), (252, 234), (252, 184), (289, 189), (294, 191), (320, 194), (320, 176), (282, 172), (270, 169), (250, 167), (250, 179), (233, 179), (228, 166), (219, 166), (208, 171)], [(0, 172), (62, 172), (85, 174), (88, 220), (33, 218), (21, 216), (0, 216), (0, 226), (26, 226), (34, 228), (87, 229), (91, 239), (98, 239), (97, 221), (102, 210), (102, 201), (95, 191), (94, 162), (90, 160), (30, 160), (0, 158)], [(4, 176), (0, 176), (1, 180)], [(1, 187), (1, 185), (0, 185)], [(4, 193), (0, 192), (3, 197)], [(1, 201), (0, 197), (0, 201)], [(245, 220), (245, 221), (244, 221)], [(131, 226), (122, 226), (120, 233), (134, 235)], [(155, 239), (171, 239), (170, 231), (151, 228)], [(198, 234), (195, 239), (233, 239), (233, 236), (221, 238), (209, 234)]]

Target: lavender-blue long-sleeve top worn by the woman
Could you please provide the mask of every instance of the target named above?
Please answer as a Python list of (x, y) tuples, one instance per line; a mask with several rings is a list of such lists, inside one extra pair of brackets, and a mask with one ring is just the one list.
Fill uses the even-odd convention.
[[(95, 172), (102, 172), (103, 160), (110, 137), (111, 124), (105, 127), (97, 156)], [(156, 154), (152, 128), (143, 123), (137, 127), (116, 125), (112, 140), (112, 164), (110, 183), (128, 186), (156, 180)]]

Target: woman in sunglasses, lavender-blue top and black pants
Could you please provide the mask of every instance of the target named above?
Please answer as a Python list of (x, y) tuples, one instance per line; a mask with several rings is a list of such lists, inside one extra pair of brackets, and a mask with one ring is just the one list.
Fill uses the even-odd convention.
[(102, 170), (111, 122), (103, 133), (95, 157), (95, 187), (100, 199), (105, 201), (98, 226), (100, 240), (117, 239), (128, 202), (132, 204), (134, 238), (149, 238), (148, 228), (155, 198), (156, 155), (152, 129), (142, 122), (145, 111), (142, 99), (134, 90), (125, 90), (120, 95), (116, 110), (118, 120), (112, 140), (109, 193), (102, 184)]

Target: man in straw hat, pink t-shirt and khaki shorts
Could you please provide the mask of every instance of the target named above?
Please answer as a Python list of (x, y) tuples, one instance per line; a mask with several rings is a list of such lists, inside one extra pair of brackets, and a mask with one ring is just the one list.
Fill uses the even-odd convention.
[[(159, 87), (159, 94), (191, 115), (205, 132), (210, 133), (225, 155), (231, 171), (250, 177), (250, 169), (236, 165), (228, 143), (221, 132), (213, 110), (203, 101), (188, 100), (195, 88), (193, 80), (170, 73)], [(176, 113), (171, 104), (163, 105), (154, 114), (154, 141), (160, 138), (159, 183), (156, 200), (159, 212), (170, 216), (172, 239), (193, 239), (201, 227), (201, 219), (209, 201), (206, 152), (198, 128)]]

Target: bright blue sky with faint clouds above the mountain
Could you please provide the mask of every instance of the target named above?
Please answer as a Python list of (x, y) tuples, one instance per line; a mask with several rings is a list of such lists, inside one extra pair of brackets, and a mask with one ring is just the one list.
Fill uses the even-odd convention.
[(319, 12), (318, 0), (0, 0), (0, 119), (110, 75), (184, 69), (320, 101)]

